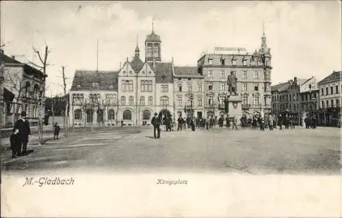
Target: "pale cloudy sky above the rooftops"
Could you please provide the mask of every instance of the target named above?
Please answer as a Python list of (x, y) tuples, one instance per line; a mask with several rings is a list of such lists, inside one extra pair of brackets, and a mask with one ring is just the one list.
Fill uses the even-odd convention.
[(341, 1), (1, 1), (6, 55), (38, 62), (32, 47), (49, 45), (47, 96), (67, 90), (76, 69), (118, 70), (151, 33), (161, 36), (164, 62), (196, 66), (213, 46), (261, 46), (263, 23), (272, 53), (272, 83), (324, 79), (341, 70)]

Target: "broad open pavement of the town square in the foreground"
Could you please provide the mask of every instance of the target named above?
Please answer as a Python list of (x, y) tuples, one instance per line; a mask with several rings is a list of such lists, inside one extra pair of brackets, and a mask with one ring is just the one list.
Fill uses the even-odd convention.
[(339, 174), (339, 128), (259, 131), (161, 132), (153, 128), (114, 128), (73, 133), (29, 145), (31, 153), (11, 159), (1, 154), (3, 173), (18, 170), (87, 169), (111, 172), (237, 172), (242, 174)]

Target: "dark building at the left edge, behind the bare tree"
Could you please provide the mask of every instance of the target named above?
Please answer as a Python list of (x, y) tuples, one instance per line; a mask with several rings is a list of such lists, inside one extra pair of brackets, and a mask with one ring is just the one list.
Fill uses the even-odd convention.
[[(40, 87), (44, 85), (46, 75), (40, 70), (18, 62), (14, 57), (1, 56), (1, 103), (2, 125), (12, 127), (21, 111), (26, 111), (31, 126), (38, 126)], [(45, 95), (43, 93), (43, 95)], [(44, 105), (42, 105), (44, 108)], [(44, 109), (41, 111), (44, 118)]]

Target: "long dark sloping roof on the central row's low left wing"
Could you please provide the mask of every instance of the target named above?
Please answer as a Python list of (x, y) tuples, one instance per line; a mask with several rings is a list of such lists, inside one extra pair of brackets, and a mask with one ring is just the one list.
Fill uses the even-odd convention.
[[(118, 72), (99, 70), (76, 70), (70, 91), (90, 90), (93, 82), (99, 82), (100, 86), (92, 90), (114, 90), (118, 91)], [(81, 87), (77, 87), (80, 84)], [(111, 88), (110, 86), (113, 85)]]

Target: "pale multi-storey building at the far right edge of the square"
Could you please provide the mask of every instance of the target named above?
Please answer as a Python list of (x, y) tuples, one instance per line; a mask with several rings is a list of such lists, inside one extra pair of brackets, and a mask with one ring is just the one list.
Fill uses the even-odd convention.
[(342, 71), (334, 71), (318, 83), (319, 122), (324, 126), (341, 126)]

